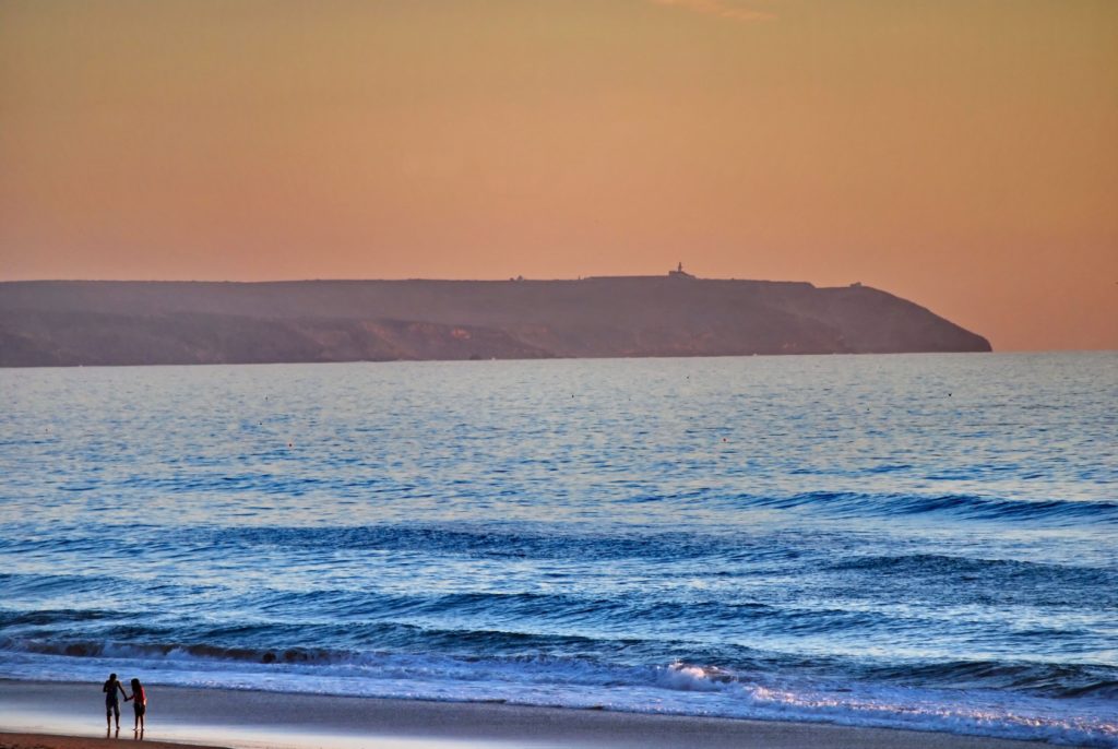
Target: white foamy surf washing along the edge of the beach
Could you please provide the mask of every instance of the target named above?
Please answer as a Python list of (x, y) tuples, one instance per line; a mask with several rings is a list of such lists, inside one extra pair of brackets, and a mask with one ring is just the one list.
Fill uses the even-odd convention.
[[(131, 651), (131, 652), (130, 652)], [(100, 681), (108, 671), (149, 684), (252, 689), (759, 720), (830, 722), (1118, 749), (1114, 700), (1053, 700), (992, 690), (928, 690), (737, 675), (712, 666), (607, 666), (580, 660), (464, 660), (361, 654), (326, 663), (229, 662), (183, 651), (97, 657), (3, 653), (0, 676)]]

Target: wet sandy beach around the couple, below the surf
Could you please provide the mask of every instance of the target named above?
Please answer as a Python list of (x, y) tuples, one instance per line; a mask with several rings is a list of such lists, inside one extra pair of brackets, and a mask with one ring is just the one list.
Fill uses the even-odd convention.
[[(1025, 749), (1008, 741), (828, 724), (334, 698), (152, 685), (145, 746), (357, 749), (729, 747)], [(0, 749), (93, 749), (133, 740), (125, 707), (105, 739), (97, 684), (0, 681)]]

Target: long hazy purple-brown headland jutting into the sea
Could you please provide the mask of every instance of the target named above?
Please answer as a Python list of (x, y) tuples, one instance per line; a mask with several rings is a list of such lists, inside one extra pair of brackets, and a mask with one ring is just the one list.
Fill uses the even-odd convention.
[(868, 286), (584, 281), (0, 283), (0, 366), (989, 351)]

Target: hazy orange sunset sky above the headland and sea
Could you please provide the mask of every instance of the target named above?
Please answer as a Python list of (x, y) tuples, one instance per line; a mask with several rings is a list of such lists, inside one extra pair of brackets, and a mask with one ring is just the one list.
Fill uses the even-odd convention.
[(0, 0), (0, 279), (676, 260), (1118, 349), (1118, 2)]

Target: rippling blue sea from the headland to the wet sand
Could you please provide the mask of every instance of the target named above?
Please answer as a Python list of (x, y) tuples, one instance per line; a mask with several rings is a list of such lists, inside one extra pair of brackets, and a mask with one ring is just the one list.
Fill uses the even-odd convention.
[(1118, 355), (0, 370), (0, 677), (1118, 747)]

